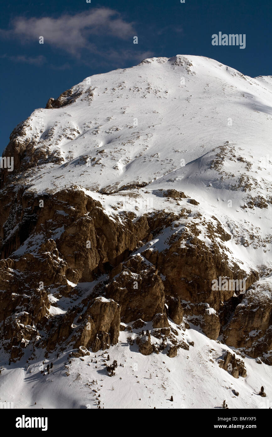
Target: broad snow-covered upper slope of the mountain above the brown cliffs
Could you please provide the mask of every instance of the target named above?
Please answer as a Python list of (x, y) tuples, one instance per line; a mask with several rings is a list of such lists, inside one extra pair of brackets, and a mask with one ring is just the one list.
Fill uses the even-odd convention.
[[(206, 168), (226, 141), (237, 156), (244, 153), (253, 173), (266, 168), (271, 182), (271, 76), (251, 79), (212, 59), (177, 55), (91, 76), (72, 92), (80, 94), (72, 104), (35, 110), (19, 139), (34, 137), (37, 148), (48, 146), (68, 163), (50, 173), (50, 166), (39, 169), (41, 180), (37, 174), (29, 179), (37, 190), (54, 187), (60, 176), (58, 187), (101, 189), (154, 179), (158, 184), (169, 173), (186, 184), (194, 175), (196, 187), (228, 188), (232, 180), (216, 183)], [(241, 162), (228, 164), (225, 171), (244, 170)]]

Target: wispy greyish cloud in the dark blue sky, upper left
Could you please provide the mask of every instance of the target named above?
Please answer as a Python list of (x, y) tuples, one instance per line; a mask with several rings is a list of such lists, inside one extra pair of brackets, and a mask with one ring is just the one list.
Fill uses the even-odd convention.
[(97, 46), (89, 41), (92, 35), (111, 36), (120, 39), (133, 37), (133, 23), (124, 21), (120, 14), (110, 8), (96, 8), (88, 13), (63, 14), (59, 18), (17, 17), (9, 30), (0, 29), (2, 38), (20, 38), (21, 42), (37, 42), (40, 36), (44, 43), (65, 50), (79, 57), (82, 49), (96, 52)]

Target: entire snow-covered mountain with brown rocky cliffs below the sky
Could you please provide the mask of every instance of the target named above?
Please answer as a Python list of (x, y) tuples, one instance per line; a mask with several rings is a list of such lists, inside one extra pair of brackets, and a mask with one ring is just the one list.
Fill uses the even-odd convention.
[(17, 408), (269, 408), (271, 137), (272, 76), (189, 55), (88, 77), (17, 125), (3, 395), (16, 381)]

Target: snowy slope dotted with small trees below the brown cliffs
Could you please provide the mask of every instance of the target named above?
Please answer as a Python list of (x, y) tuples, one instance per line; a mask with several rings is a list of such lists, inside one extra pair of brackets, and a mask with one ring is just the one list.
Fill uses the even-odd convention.
[[(99, 400), (101, 408), (206, 409), (220, 408), (225, 399), (233, 409), (272, 407), (271, 366), (246, 357), (248, 376), (235, 379), (219, 368), (215, 359), (222, 355), (222, 350), (232, 350), (195, 329), (186, 330), (182, 337), (193, 341), (194, 346), (180, 349), (175, 358), (165, 353), (143, 356), (136, 345), (127, 346), (127, 336), (127, 332), (121, 332), (116, 346), (96, 354), (91, 352), (84, 361), (72, 358), (69, 364), (67, 355), (58, 360), (53, 358), (52, 373), (45, 376), (41, 368), (50, 365), (51, 357), (44, 365), (43, 357), (25, 365), (20, 362), (20, 366), (3, 364), (1, 402), (14, 402), (14, 408), (31, 409), (92, 409), (97, 408)], [(107, 376), (105, 370), (108, 354), (110, 363), (114, 359), (118, 362), (114, 377)], [(261, 385), (265, 387), (266, 398), (258, 395)], [(239, 395), (234, 395), (233, 390)], [(173, 402), (170, 402), (171, 395)]]

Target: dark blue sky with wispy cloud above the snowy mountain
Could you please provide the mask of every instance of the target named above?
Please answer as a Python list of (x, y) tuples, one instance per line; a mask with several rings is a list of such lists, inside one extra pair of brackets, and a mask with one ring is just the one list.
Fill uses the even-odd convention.
[[(272, 75), (271, 0), (1, 0), (1, 12), (1, 153), (49, 97), (146, 57), (203, 55), (249, 76)], [(213, 46), (219, 31), (246, 34), (245, 49)]]

